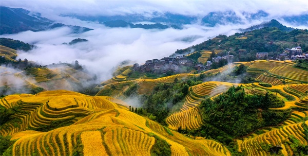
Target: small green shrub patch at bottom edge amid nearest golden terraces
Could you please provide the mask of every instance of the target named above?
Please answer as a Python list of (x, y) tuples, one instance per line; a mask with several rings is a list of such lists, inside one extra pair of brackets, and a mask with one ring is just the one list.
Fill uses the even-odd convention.
[(149, 135), (155, 137), (155, 144), (152, 146), (150, 151), (151, 156), (171, 155), (171, 145), (153, 133), (149, 133)]

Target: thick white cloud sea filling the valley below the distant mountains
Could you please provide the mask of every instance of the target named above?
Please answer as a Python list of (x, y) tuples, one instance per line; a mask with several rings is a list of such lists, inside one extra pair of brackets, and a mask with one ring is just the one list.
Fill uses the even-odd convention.
[[(185, 25), (179, 29), (141, 29), (107, 28), (101, 26), (82, 34), (71, 34), (67, 27), (49, 31), (25, 31), (6, 34), (1, 37), (13, 38), (26, 43), (35, 43), (37, 48), (27, 53), (18, 53), (18, 58), (36, 61), (41, 64), (61, 62), (71, 63), (78, 60), (87, 69), (101, 76), (101, 80), (111, 77), (110, 70), (123, 60), (144, 63), (146, 60), (167, 57), (176, 49), (199, 44), (218, 34), (233, 34), (239, 25), (218, 26), (213, 30), (200, 25)], [(244, 28), (247, 26), (244, 26)], [(189, 36), (201, 36), (193, 42), (181, 39)], [(75, 38), (84, 38), (88, 42), (75, 45), (63, 45)]]

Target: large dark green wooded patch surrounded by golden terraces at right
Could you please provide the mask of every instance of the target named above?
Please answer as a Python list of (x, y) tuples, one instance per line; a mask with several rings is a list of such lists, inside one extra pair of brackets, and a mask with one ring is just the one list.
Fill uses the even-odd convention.
[(205, 124), (199, 133), (228, 144), (233, 138), (258, 128), (281, 123), (290, 116), (291, 111), (278, 112), (269, 108), (283, 106), (284, 102), (273, 94), (250, 95), (240, 86), (233, 86), (214, 101), (207, 98), (201, 102), (199, 107)]

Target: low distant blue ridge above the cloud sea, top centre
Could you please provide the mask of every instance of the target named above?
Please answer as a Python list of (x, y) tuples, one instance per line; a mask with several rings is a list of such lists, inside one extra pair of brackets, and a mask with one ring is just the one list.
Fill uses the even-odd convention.
[(164, 25), (160, 23), (155, 23), (155, 24), (132, 24), (125, 22), (123, 20), (114, 20), (114, 21), (107, 21), (103, 23), (107, 27), (130, 27), (130, 28), (143, 28), (143, 29), (167, 29), (167, 28), (176, 28), (176, 29), (181, 29), (181, 27), (176, 26), (176, 25)]

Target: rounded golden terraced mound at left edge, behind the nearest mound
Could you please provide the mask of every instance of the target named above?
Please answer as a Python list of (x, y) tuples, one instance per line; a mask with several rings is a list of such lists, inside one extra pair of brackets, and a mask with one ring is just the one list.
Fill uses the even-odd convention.
[[(113, 101), (125, 106), (120, 100)], [(80, 117), (94, 111), (126, 108), (107, 100), (106, 97), (92, 97), (62, 90), (46, 91), (36, 95), (9, 95), (1, 99), (0, 105), (6, 109), (20, 107), (14, 114), (15, 120), (1, 126), (1, 135), (11, 135), (26, 129), (39, 129), (51, 125), (52, 122), (73, 124)], [(14, 126), (16, 124), (19, 126)]]

